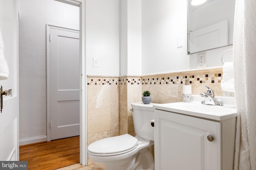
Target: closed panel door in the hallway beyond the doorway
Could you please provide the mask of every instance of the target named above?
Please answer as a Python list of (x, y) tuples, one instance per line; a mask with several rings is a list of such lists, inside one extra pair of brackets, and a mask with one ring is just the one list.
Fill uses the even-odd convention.
[(50, 28), (51, 140), (80, 135), (79, 32)]

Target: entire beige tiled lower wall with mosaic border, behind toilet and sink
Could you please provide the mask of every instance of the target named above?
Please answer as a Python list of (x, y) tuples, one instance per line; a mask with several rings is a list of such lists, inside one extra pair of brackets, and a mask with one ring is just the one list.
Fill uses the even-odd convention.
[(221, 90), (221, 67), (141, 77), (88, 76), (88, 145), (126, 133), (135, 136), (131, 103), (141, 102), (144, 90), (150, 91), (153, 103), (182, 102), (184, 79), (192, 85), (192, 94), (205, 92), (204, 85), (212, 88), (215, 96), (234, 96)]

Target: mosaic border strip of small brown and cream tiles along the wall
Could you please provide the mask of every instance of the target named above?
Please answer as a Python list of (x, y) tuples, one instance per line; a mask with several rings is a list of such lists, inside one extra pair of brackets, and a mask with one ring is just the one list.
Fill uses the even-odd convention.
[(142, 77), (88, 77), (87, 85), (183, 84), (184, 79), (188, 79), (189, 84), (220, 83), (222, 80), (222, 68), (155, 74)]

